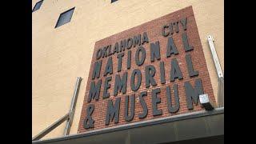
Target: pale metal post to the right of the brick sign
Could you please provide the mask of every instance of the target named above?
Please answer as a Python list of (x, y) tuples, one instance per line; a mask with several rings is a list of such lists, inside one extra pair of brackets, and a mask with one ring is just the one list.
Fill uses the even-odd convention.
[(224, 106), (224, 75), (222, 73), (222, 67), (218, 61), (218, 55), (214, 46), (214, 38), (211, 35), (207, 36), (207, 40), (210, 46), (210, 52), (214, 59), (214, 65), (218, 74), (218, 106)]

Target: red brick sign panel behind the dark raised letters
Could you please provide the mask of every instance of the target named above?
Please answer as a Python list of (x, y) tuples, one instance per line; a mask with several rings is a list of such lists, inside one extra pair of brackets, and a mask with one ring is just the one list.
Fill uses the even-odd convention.
[[(190, 45), (194, 46), (194, 50), (191, 50), (188, 52), (186, 52), (184, 50), (183, 44), (182, 44), (182, 33), (184, 32), (184, 30), (182, 29), (182, 26), (180, 25), (179, 32), (178, 33), (174, 32), (174, 34), (172, 36), (174, 38), (174, 43), (177, 46), (179, 54), (177, 54), (177, 55), (172, 54), (170, 58), (166, 58), (166, 45), (167, 45), (168, 37), (165, 38), (162, 36), (162, 26), (169, 24), (170, 22), (177, 22), (177, 21), (181, 20), (182, 18), (187, 18), (186, 33), (187, 33), (188, 41), (189, 41)], [(114, 102), (115, 102), (116, 98), (121, 97), (121, 103), (120, 103), (118, 124), (114, 124), (114, 121), (113, 121), (113, 122), (110, 122), (109, 126), (105, 126), (107, 101), (110, 98), (103, 99), (102, 94), (103, 94), (103, 89), (104, 89), (105, 78), (109, 77), (110, 75), (107, 75), (106, 77), (104, 77), (103, 73), (105, 70), (107, 59), (109, 57), (101, 58), (102, 59), (102, 69), (101, 69), (101, 73), (100, 73), (101, 74), (100, 78), (98, 78), (98, 79), (102, 79), (102, 87), (101, 87), (99, 100), (95, 101), (95, 99), (93, 99), (91, 102), (87, 102), (87, 96), (88, 96), (88, 93), (90, 90), (90, 82), (91, 82), (91, 78), (92, 78), (92, 71), (94, 69), (94, 62), (97, 61), (96, 60), (96, 52), (97, 52), (98, 48), (102, 48), (102, 47), (108, 46), (108, 45), (114, 46), (115, 42), (120, 42), (123, 39), (127, 39), (127, 38), (133, 38), (134, 36), (137, 36), (138, 34), (143, 34), (143, 32), (147, 33), (150, 42), (142, 45), (146, 49), (146, 60), (142, 66), (137, 66), (134, 61), (134, 54), (135, 54), (135, 51), (138, 48), (138, 46), (132, 47), (130, 49), (131, 56), (132, 56), (130, 70), (126, 69), (126, 58), (127, 58), (128, 50), (124, 51), (125, 55), (122, 58), (122, 71), (120, 71), (120, 72), (118, 72), (117, 54), (110, 56), (113, 58), (113, 74), (111, 74), (111, 76), (112, 76), (112, 80), (110, 82), (111, 88), (108, 90), (108, 92), (110, 93), (110, 98), (112, 98)], [(150, 62), (150, 43), (157, 42), (157, 41), (159, 41), (159, 43), (160, 43), (161, 60), (159, 60), (159, 61), (155, 60), (154, 62)], [(112, 47), (112, 49), (113, 48), (114, 47)], [(118, 53), (118, 54), (120, 54), (120, 53)], [(198, 76), (190, 78), (190, 76), (188, 74), (187, 66), (186, 66), (186, 58), (185, 58), (186, 54), (191, 55), (193, 67), (194, 67), (194, 70), (198, 70)], [(170, 60), (172, 58), (177, 58), (177, 60), (178, 60), (178, 64), (182, 70), (182, 75), (183, 75), (182, 80), (175, 79), (174, 82), (169, 81), (169, 79), (170, 79)], [(161, 61), (165, 62), (165, 70), (166, 70), (165, 71), (166, 84), (163, 84), (163, 85), (160, 82), (159, 62), (161, 62)], [(145, 86), (145, 74), (144, 74), (145, 67), (147, 65), (155, 66), (157, 73), (155, 74), (154, 79), (158, 84), (158, 86), (150, 86), (150, 88), (148, 88), (148, 89), (146, 89), (146, 86)], [(132, 70), (134, 70), (134, 69), (139, 69), (142, 72), (142, 85), (140, 86), (140, 89), (136, 92), (133, 92), (130, 89), (130, 74), (131, 74)], [(120, 74), (120, 76), (122, 76), (122, 74), (126, 71), (128, 72), (126, 94), (118, 93), (118, 95), (116, 97), (111, 97), (111, 96), (113, 96), (113, 92), (114, 92), (115, 74)], [(184, 113), (190, 113), (190, 112), (194, 112), (194, 111), (198, 111), (198, 110), (203, 110), (202, 107), (200, 106), (200, 102), (198, 102), (197, 106), (195, 104), (193, 104), (194, 110), (188, 110), (187, 106), (186, 106), (186, 94), (185, 94), (184, 82), (189, 81), (191, 83), (191, 85), (194, 86), (194, 80), (197, 78), (201, 78), (201, 80), (202, 80), (202, 88), (203, 88), (204, 93), (209, 94), (211, 100), (213, 102), (215, 102), (214, 92), (213, 92), (213, 89), (211, 86), (210, 77), (209, 77), (208, 70), (206, 67), (206, 60), (205, 60), (205, 57), (204, 57), (204, 54), (202, 51), (202, 44), (201, 44), (201, 41), (199, 38), (198, 28), (196, 26), (192, 6), (186, 7), (185, 9), (182, 9), (182, 10), (178, 10), (171, 14), (167, 14), (165, 16), (162, 16), (161, 18), (154, 19), (153, 21), (146, 22), (140, 26), (131, 28), (130, 30), (125, 30), (119, 34), (114, 34), (114, 35), (110, 36), (109, 38), (104, 38), (95, 43), (94, 55), (93, 55), (92, 62), (90, 65), (90, 74), (89, 74), (88, 82), (86, 85), (86, 94), (85, 94), (85, 98), (84, 98), (84, 102), (83, 102), (83, 106), (82, 106), (82, 114), (81, 114), (81, 118), (80, 118), (80, 122), (79, 122), (79, 126), (78, 126), (78, 133), (86, 132), (89, 130), (98, 130), (98, 129), (111, 127), (111, 126), (124, 125), (126, 123), (146, 121), (146, 120), (153, 119), (153, 118), (162, 118), (162, 117), (167, 117), (167, 116), (171, 116), (171, 115), (184, 114)], [(98, 82), (98, 79), (96, 78), (94, 81)], [(179, 96), (180, 108), (177, 113), (170, 114), (167, 110), (166, 86), (170, 86), (170, 88), (172, 89), (174, 84), (178, 84), (178, 96)], [(152, 115), (151, 90), (153, 90), (157, 87), (161, 88), (161, 93), (158, 95), (158, 97), (161, 98), (161, 103), (158, 104), (158, 109), (162, 109), (162, 115), (154, 117)], [(148, 92), (147, 96), (144, 97), (147, 108), (148, 108), (148, 114), (147, 114), (146, 118), (143, 118), (143, 119), (138, 118), (138, 114), (142, 112), (142, 106), (141, 106), (140, 102), (135, 100), (134, 119), (131, 122), (126, 122), (124, 119), (124, 106), (125, 106), (124, 96), (127, 94), (129, 94), (129, 95), (135, 94), (135, 98), (138, 98), (138, 94), (140, 94), (140, 92), (145, 91), (145, 90)], [(172, 95), (172, 100), (174, 100), (174, 98), (173, 98), (174, 94), (172, 93), (171, 95)], [(94, 104), (95, 109), (94, 109), (94, 113), (92, 114), (92, 118), (94, 119), (95, 122), (94, 122), (94, 128), (85, 130), (83, 128), (83, 121), (86, 117), (86, 107), (89, 104)]]

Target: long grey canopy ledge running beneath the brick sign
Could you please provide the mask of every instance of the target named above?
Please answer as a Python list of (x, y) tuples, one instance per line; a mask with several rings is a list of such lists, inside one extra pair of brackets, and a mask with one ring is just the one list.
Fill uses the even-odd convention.
[(212, 111), (198, 111), (145, 122), (134, 122), (32, 143), (162, 143), (218, 135), (224, 135), (224, 107)]

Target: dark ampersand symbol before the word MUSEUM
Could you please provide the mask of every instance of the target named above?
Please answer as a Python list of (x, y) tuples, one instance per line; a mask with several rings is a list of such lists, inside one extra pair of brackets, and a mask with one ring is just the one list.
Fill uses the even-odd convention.
[(91, 114), (94, 112), (94, 105), (93, 104), (90, 104), (88, 107), (87, 107), (87, 110), (86, 110), (86, 119), (84, 120), (83, 122), (83, 127), (85, 129), (90, 129), (90, 128), (94, 128), (94, 120), (93, 118), (91, 118)]

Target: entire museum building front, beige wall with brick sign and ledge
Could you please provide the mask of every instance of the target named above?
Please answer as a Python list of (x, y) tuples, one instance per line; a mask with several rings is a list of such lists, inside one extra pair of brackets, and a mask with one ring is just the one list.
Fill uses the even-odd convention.
[(33, 143), (222, 142), (208, 35), (224, 72), (222, 0), (33, 0), (33, 138), (69, 112), (82, 78), (69, 135), (65, 121)]

